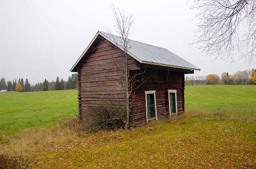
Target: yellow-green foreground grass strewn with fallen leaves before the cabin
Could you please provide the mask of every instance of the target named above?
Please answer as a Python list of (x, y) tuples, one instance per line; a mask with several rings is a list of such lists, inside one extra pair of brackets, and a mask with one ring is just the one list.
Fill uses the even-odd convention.
[(254, 167), (255, 133), (255, 123), (185, 113), (134, 130), (100, 131), (73, 139), (39, 155), (43, 165), (38, 167)]

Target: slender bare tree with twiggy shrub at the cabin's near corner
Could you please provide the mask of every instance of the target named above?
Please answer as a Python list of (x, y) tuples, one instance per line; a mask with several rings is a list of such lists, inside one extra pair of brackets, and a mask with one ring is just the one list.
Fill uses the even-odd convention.
[[(113, 76), (112, 74), (103, 74), (102, 76), (108, 79), (108, 82), (112, 83), (113, 86), (116, 86), (118, 91), (117, 93), (112, 91), (115, 89), (106, 91), (107, 93), (101, 96), (104, 97), (104, 101), (97, 101), (93, 103), (93, 106), (89, 106), (91, 112), (89, 112), (89, 118), (86, 121), (86, 128), (89, 130), (112, 130), (123, 127), (127, 130), (130, 124), (130, 106), (132, 106), (130, 98), (132, 91), (139, 88), (147, 80), (145, 79), (141, 83), (141, 78), (136, 79), (137, 76), (146, 72), (146, 67), (143, 69), (144, 71), (141, 70), (141, 67), (132, 69), (132, 71), (128, 69), (128, 59), (131, 59), (128, 54), (131, 48), (128, 35), (132, 24), (132, 15), (125, 16), (123, 11), (116, 10), (114, 6), (112, 6), (112, 10), (115, 14), (115, 27), (119, 36), (115, 36), (109, 31), (110, 34), (106, 33), (105, 35), (111, 40), (101, 37), (100, 41), (104, 44), (108, 43), (106, 48), (112, 56), (111, 63), (115, 66), (115, 73)], [(113, 52), (113, 49), (117, 49), (117, 51)], [(122, 93), (120, 93), (120, 89)]]

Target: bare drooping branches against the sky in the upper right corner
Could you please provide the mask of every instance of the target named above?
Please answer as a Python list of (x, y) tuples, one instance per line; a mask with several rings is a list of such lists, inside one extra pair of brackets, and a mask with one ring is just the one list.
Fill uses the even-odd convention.
[(234, 56), (251, 64), (256, 57), (256, 0), (194, 0), (199, 9), (199, 44), (204, 56), (234, 61)]

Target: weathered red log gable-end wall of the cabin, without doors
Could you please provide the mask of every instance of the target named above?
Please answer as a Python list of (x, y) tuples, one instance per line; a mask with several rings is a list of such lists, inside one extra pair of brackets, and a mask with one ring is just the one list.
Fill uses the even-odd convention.
[[(139, 69), (139, 63), (128, 59), (129, 69)], [(107, 40), (100, 40), (89, 56), (78, 67), (79, 118), (86, 118), (89, 106), (117, 100), (125, 100), (124, 53)], [(123, 102), (122, 102), (123, 101)]]

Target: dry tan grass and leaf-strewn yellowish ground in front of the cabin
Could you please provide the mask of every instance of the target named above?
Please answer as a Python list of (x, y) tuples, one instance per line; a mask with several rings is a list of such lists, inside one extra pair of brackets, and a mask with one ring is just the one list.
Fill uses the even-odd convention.
[(96, 133), (72, 118), (16, 134), (0, 144), (0, 154), (10, 168), (255, 167), (255, 132), (254, 122), (201, 111)]

